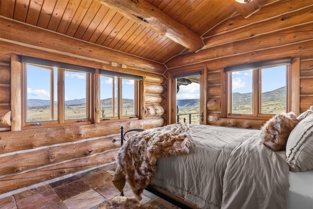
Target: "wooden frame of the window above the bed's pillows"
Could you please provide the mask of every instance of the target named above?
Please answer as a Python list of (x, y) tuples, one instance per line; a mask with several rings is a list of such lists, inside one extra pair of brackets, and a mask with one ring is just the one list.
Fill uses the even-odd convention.
[[(225, 117), (267, 120), (275, 114), (262, 114), (262, 69), (286, 65), (286, 113), (291, 111), (291, 59), (283, 58), (279, 60), (250, 63), (224, 68), (225, 73)], [(231, 101), (231, 72), (240, 70), (252, 70), (252, 114), (232, 114)], [(223, 115), (223, 114), (222, 114)]]

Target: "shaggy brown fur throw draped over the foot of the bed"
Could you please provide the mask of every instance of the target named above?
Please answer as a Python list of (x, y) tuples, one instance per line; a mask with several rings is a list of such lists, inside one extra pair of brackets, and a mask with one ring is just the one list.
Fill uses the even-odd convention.
[(141, 193), (150, 184), (156, 171), (156, 160), (189, 152), (191, 131), (183, 123), (142, 131), (126, 141), (117, 156), (117, 166), (127, 183), (141, 200)]

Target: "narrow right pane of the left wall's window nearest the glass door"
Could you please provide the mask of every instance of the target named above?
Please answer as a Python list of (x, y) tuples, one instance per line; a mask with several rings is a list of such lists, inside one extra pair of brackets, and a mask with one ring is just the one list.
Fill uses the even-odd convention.
[(134, 80), (122, 79), (122, 116), (135, 116)]

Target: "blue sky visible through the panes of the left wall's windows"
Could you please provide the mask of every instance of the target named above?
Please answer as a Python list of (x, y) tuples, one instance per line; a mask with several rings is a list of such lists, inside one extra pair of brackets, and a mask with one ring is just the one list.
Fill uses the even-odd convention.
[[(45, 70), (35, 66), (28, 66), (27, 68), (27, 98), (28, 99), (50, 99), (50, 70)], [(55, 91), (56, 95), (56, 70), (54, 70)], [(101, 76), (102, 77), (102, 76)], [(86, 95), (85, 86), (86, 74), (82, 72), (69, 72), (65, 73), (65, 100), (82, 99)], [(82, 85), (77, 85), (78, 83)], [(83, 85), (84, 84), (84, 85)], [(112, 97), (112, 79), (102, 77), (100, 79), (101, 88), (108, 91), (101, 91), (100, 98)], [(134, 99), (134, 81), (123, 79), (123, 97)], [(56, 100), (56, 99), (55, 99)]]

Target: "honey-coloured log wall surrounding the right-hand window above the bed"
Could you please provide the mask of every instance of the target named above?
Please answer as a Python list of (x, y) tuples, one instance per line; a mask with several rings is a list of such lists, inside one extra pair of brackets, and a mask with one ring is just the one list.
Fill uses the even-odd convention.
[[(186, 52), (165, 63), (168, 72), (207, 68), (207, 124), (257, 128), (268, 118), (226, 116), (224, 68), (290, 57), (291, 111), (313, 105), (313, 5), (310, 1), (281, 1), (248, 18), (235, 16), (203, 35), (205, 48)], [(301, 17), (301, 18), (300, 18)], [(213, 116), (213, 121), (209, 121)]]

